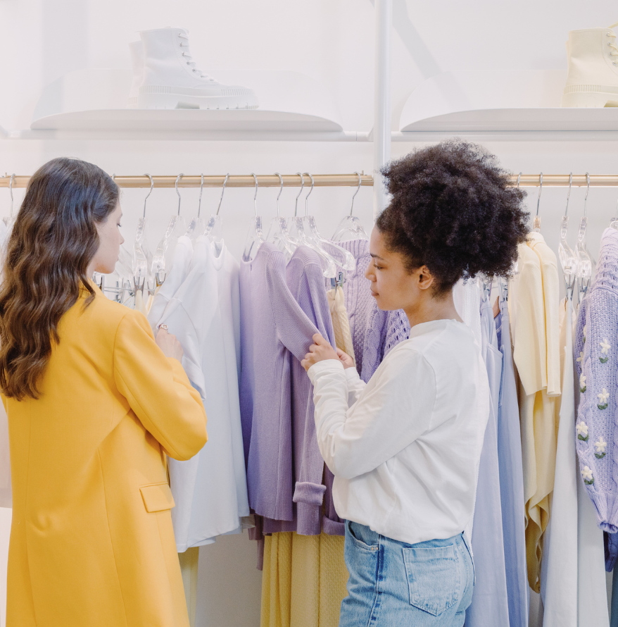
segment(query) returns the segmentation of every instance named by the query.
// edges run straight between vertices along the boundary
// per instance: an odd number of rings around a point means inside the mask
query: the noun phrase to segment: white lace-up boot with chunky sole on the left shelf
[[[253,89],[221,85],[198,70],[189,54],[189,31],[158,28],[139,34],[144,45],[144,79],[139,108],[253,109]]]

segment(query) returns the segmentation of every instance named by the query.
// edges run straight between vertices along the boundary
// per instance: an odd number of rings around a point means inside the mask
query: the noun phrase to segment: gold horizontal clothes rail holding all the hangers
[[[358,187],[357,174],[313,174],[315,187]],[[569,187],[569,174],[543,174],[543,187]],[[154,187],[175,187],[178,175],[153,176]],[[256,175],[258,187],[281,187],[279,177],[274,174]],[[517,185],[518,175],[510,175],[510,182]],[[618,174],[591,174],[590,187],[618,187]],[[284,187],[301,187],[302,178],[297,174],[282,175]],[[13,175],[13,187],[26,187],[30,176]],[[119,187],[150,187],[151,182],[147,175],[116,175],[115,182]],[[201,187],[201,175],[182,175],[178,180],[178,187]],[[203,187],[223,187],[225,175],[204,176]],[[0,187],[9,187],[11,175],[5,173],[0,177]],[[374,177],[364,172],[360,174],[360,185],[372,187]],[[519,176],[519,187],[538,187],[541,185],[541,175],[522,174]],[[586,187],[588,181],[585,174],[572,175],[573,187]],[[255,187],[253,175],[229,175],[225,187]],[[305,173],[305,187],[311,186],[311,179]]]

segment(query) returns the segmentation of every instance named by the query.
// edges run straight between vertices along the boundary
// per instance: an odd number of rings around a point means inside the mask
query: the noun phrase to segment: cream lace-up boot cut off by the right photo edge
[[[609,28],[569,32],[569,74],[562,106],[618,106],[618,46]]]

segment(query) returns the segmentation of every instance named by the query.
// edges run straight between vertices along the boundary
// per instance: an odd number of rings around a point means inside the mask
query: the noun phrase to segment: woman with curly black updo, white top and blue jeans
[[[382,174],[392,199],[372,232],[366,276],[380,309],[405,311],[410,337],[366,385],[320,335],[303,360],[346,519],[339,627],[461,627],[474,590],[462,532],[474,512],[489,391],[453,285],[510,273],[528,231],[524,192],[494,156],[459,141],[418,149]]]

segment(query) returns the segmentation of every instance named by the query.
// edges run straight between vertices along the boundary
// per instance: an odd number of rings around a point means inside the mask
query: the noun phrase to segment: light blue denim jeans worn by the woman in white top
[[[410,545],[346,521],[346,566],[339,627],[462,627],[474,590],[462,534]]]

